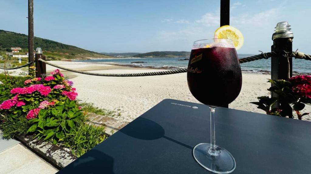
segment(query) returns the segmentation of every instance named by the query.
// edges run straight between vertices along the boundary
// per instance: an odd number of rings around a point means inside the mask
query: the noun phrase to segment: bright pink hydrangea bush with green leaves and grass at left
[[[3,137],[32,135],[68,147],[81,156],[108,136],[90,124],[88,113],[119,115],[76,99],[73,82],[57,69],[45,78],[0,75],[0,129]]]

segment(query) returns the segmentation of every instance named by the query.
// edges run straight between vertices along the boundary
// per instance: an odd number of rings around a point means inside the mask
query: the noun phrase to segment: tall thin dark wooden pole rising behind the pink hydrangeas
[[[32,62],[34,60],[34,0],[28,0],[28,52],[28,61]]]

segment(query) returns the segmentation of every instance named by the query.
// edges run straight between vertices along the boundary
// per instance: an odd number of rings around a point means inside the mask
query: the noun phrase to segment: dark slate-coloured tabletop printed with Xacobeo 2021
[[[227,108],[215,120],[232,173],[311,173],[311,122]],[[211,173],[192,156],[210,142],[209,124],[207,106],[165,99],[58,173]]]

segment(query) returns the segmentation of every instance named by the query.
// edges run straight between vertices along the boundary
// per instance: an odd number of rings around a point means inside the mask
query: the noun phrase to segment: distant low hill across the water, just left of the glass
[[[188,51],[153,51],[149,53],[137,54],[133,57],[140,57],[140,58],[156,58],[156,57],[189,57],[190,52]]]

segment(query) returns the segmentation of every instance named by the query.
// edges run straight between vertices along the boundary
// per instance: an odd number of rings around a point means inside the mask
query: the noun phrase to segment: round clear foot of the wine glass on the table
[[[211,144],[200,143],[193,148],[194,159],[205,169],[214,173],[231,173],[235,169],[233,156],[224,148],[216,145],[216,155],[210,154]]]

